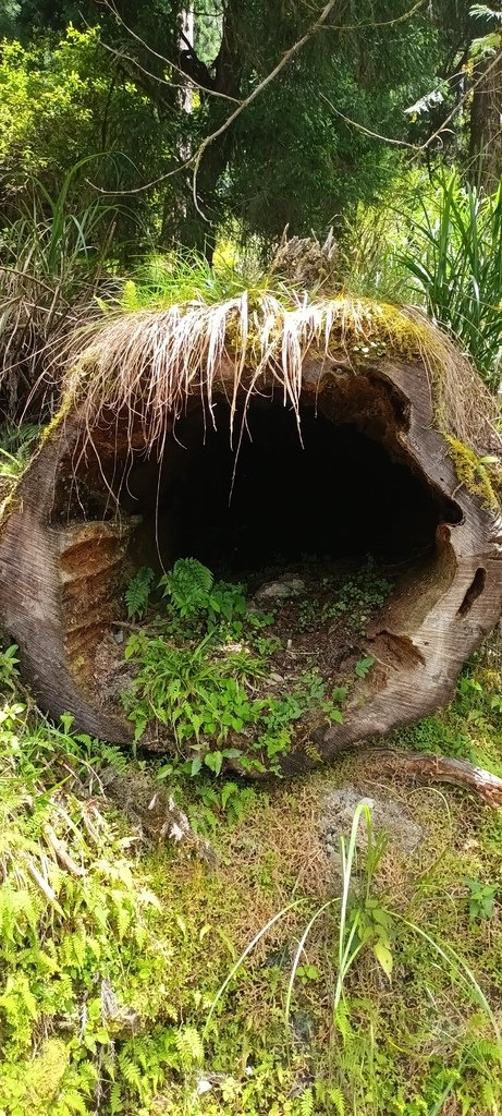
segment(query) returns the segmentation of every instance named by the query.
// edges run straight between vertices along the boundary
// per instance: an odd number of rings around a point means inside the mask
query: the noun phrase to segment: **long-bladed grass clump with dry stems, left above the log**
[[[33,180],[30,202],[0,230],[0,391],[11,415],[33,391],[44,394],[68,333],[98,311],[116,210],[99,200],[69,204],[85,162],[54,196]]]

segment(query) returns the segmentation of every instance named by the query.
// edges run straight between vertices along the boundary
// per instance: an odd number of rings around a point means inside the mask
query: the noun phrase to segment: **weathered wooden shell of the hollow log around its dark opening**
[[[452,442],[437,420],[423,355],[403,356],[387,346],[368,357],[360,352],[367,348],[365,340],[366,335],[353,334],[348,345],[346,337],[331,330],[321,352],[308,336],[301,352],[298,406],[311,422],[322,415],[334,441],[341,427],[346,439],[353,431],[354,437],[377,446],[393,468],[409,475],[409,492],[422,492],[416,522],[413,507],[407,511],[418,541],[424,532],[423,554],[409,562],[398,593],[368,632],[365,650],[377,665],[351,694],[344,723],[317,728],[307,739],[300,733],[283,760],[284,771],[310,767],[316,750],[321,758],[332,758],[368,735],[437,710],[451,698],[462,664],[502,608],[502,521],[493,490],[489,483],[467,487],[458,475]],[[201,368],[206,359],[205,350]],[[223,345],[212,368],[210,415],[218,417],[220,407],[228,426],[228,398],[234,389],[243,414],[254,405],[283,414],[284,396],[273,360],[263,363],[259,377],[242,363],[236,376],[236,364]],[[114,367],[109,375],[113,378]],[[187,448],[180,444],[176,427],[173,431],[168,405],[162,435],[152,441],[145,433],[147,392],[136,394],[131,406],[124,403],[115,410],[105,401],[90,439],[88,412],[84,421],[83,405],[67,403],[65,420],[44,441],[1,526],[0,619],[20,647],[27,680],[49,713],[69,711],[78,729],[110,741],[127,742],[132,730],[99,693],[96,650],[113,622],[124,616],[125,583],[144,564],[148,546],[153,554],[161,539],[165,565],[180,554],[184,500],[178,493],[191,483],[189,465],[197,431],[196,461],[204,469],[203,431],[209,421],[204,391],[201,395],[197,384],[185,393],[186,429],[192,431]],[[464,394],[466,402],[458,403],[464,413],[480,405],[470,400],[469,389]],[[298,416],[298,407],[293,410]],[[475,450],[496,455],[500,442],[490,434],[490,422],[485,430],[485,444],[477,439]],[[453,426],[452,433],[458,445],[458,430]],[[472,459],[472,449],[466,452],[471,464],[479,460],[475,454]],[[483,478],[482,464],[479,468]],[[349,470],[339,483],[350,485]],[[320,477],[319,484],[326,488],[327,514],[336,514],[330,478]],[[384,509],[385,491],[380,498]],[[351,514],[351,528],[363,538],[363,504]],[[385,517],[390,522],[388,506]]]

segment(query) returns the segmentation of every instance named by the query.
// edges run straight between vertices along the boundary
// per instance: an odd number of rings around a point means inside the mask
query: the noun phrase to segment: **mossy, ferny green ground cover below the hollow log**
[[[2,1116],[502,1110],[499,811],[398,770],[375,781],[357,756],[267,787],[187,778],[41,718],[16,658],[0,658]],[[500,770],[501,706],[489,644],[395,743]],[[151,812],[173,795],[185,840],[141,822],[139,785]],[[360,808],[366,852],[348,818],[329,858],[326,796],[348,785],[407,811],[416,848]]]

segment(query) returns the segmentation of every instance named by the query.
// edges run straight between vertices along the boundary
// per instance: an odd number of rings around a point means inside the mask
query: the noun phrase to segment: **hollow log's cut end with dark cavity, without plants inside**
[[[500,616],[501,520],[483,493],[460,482],[421,363],[306,358],[298,415],[272,379],[245,411],[238,396],[236,456],[230,414],[223,369],[214,425],[201,398],[189,396],[162,444],[146,445],[131,413],[102,419],[84,443],[78,413],[70,415],[32,462],[2,526],[0,614],[45,709],[127,742],[131,725],[107,704],[96,656],[124,616],[134,569],[190,555],[239,574],[266,568],[279,545],[286,561],[384,556],[403,574],[366,636],[376,670],[349,698],[342,723],[298,734],[283,760],[293,772],[311,767],[313,752],[332,759],[450,699],[466,656]],[[438,761],[429,764],[437,776]],[[499,782],[479,780],[498,802]]]

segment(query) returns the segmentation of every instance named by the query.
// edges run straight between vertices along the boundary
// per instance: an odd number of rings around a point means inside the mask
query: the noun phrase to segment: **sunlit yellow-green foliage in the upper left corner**
[[[95,18],[96,10],[90,21]],[[42,23],[31,41],[2,42],[0,165],[15,209],[19,196],[29,200],[33,177],[57,193],[57,184],[83,158],[95,158],[93,182],[110,193],[136,184],[143,171],[147,180],[160,169],[163,128],[147,97],[114,66],[100,29],[90,21],[80,29],[69,22],[58,36]],[[71,200],[84,209],[96,194],[85,180],[78,187]],[[118,234],[129,237],[142,211],[142,199],[129,198]]]

